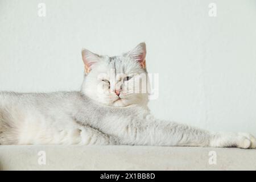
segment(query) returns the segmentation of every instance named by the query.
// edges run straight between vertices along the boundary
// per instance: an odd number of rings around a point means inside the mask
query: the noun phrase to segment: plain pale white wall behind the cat
[[[256,135],[254,0],[0,0],[0,90],[79,90],[82,47],[117,55],[139,42],[159,73],[156,117]]]

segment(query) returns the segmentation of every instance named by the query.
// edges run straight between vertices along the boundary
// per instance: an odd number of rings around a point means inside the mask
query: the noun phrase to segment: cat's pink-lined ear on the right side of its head
[[[138,61],[142,68],[146,68],[146,53],[146,44],[142,42],[127,54],[133,57],[135,61]]]

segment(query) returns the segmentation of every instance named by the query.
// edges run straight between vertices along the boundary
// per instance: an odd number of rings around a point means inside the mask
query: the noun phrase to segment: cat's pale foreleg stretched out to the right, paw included
[[[125,122],[123,122],[125,123]],[[246,133],[210,133],[175,122],[160,121],[153,117],[132,119],[117,125],[115,135],[121,138],[121,144],[150,146],[204,146],[204,147],[240,147],[255,148],[255,138]],[[123,129],[121,128],[123,127]],[[118,131],[118,132],[116,132]]]

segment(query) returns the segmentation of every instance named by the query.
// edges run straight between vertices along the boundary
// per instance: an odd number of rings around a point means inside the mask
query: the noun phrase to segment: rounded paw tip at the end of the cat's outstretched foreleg
[[[256,148],[256,138],[249,133],[238,133],[237,147]]]

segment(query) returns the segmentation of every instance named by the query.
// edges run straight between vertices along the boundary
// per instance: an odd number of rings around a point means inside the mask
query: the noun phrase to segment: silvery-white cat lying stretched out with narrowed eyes
[[[256,147],[247,133],[155,119],[148,93],[134,86],[147,75],[145,43],[112,57],[82,49],[82,60],[78,92],[0,93],[0,144]]]

